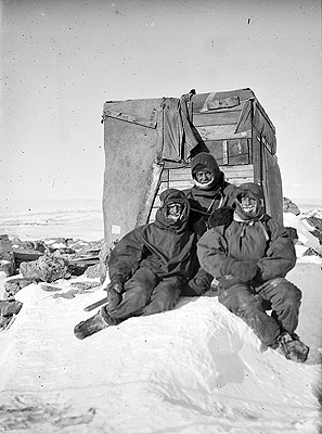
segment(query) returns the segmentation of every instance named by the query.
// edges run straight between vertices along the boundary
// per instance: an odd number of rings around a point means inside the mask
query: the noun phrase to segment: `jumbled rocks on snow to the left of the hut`
[[[69,292],[56,295],[65,298],[101,288],[114,245],[106,246],[103,240],[87,242],[55,238],[22,241],[18,238],[10,240],[7,234],[0,235],[0,271],[7,276],[3,299],[0,301],[0,330],[10,327],[22,307],[15,294],[33,282],[42,282],[44,291],[61,291],[55,285],[60,279],[82,275],[87,279],[99,278],[95,282],[72,282]]]

